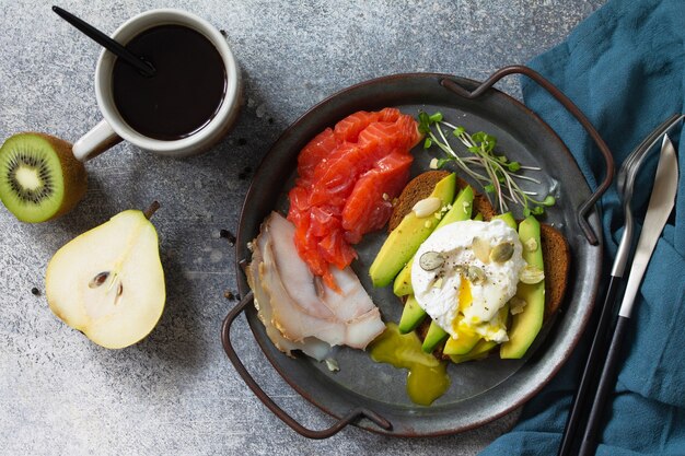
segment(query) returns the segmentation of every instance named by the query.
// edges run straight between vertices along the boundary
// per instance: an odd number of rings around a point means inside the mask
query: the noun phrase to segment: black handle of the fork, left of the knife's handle
[[[569,456],[574,453],[573,449],[578,446],[578,426],[588,416],[588,399],[590,391],[593,391],[597,384],[597,374],[601,369],[600,363],[606,358],[606,350],[611,340],[608,329],[614,315],[616,292],[620,280],[620,277],[612,276],[608,282],[606,297],[604,299],[604,305],[601,307],[600,319],[596,323],[594,337],[592,338],[592,346],[590,346],[590,351],[585,361],[585,367],[582,376],[580,377],[580,384],[578,385],[578,390],[573,397],[571,410],[566,421],[564,433],[561,434],[561,444],[559,445],[558,456]]]

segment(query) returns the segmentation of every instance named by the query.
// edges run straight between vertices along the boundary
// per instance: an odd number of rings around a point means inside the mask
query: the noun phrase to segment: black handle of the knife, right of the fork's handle
[[[616,371],[618,370],[620,349],[623,347],[623,340],[628,329],[629,321],[630,318],[620,315],[616,320],[616,329],[614,330],[612,344],[609,346],[606,354],[606,362],[604,363],[604,369],[602,370],[597,391],[594,395],[594,401],[592,404],[592,408],[590,409],[588,425],[578,453],[579,456],[591,456],[595,453],[597,434],[601,431],[600,425],[602,424],[602,419],[606,416],[604,410],[606,400],[609,393],[616,385]]]

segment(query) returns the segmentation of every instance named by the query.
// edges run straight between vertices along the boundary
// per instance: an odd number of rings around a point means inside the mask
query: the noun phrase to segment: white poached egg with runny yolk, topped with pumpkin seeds
[[[411,267],[416,300],[455,339],[464,331],[504,342],[507,315],[525,266],[515,230],[502,220],[466,220],[436,230]]]

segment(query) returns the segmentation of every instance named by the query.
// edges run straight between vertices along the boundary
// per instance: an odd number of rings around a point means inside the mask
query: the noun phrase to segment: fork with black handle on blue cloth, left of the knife
[[[616,257],[612,266],[612,272],[609,282],[604,299],[604,304],[601,307],[600,319],[596,324],[588,360],[580,378],[580,384],[573,402],[571,404],[571,410],[561,435],[561,444],[559,446],[558,456],[568,456],[572,454],[572,449],[577,444],[578,425],[584,421],[588,413],[588,396],[590,391],[594,390],[597,384],[599,363],[606,358],[609,343],[609,324],[614,315],[614,306],[616,302],[616,292],[622,282],[623,274],[626,270],[626,265],[630,256],[630,247],[632,244],[635,221],[632,218],[632,209],[630,202],[632,200],[632,191],[635,187],[635,179],[649,152],[653,150],[659,139],[665,135],[671,128],[675,127],[685,115],[675,114],[667,118],[663,124],[657,127],[651,133],[649,133],[640,144],[635,148],[630,155],[624,161],[616,176],[616,189],[618,196],[623,202],[623,210],[625,213],[625,227],[620,236],[618,249],[616,250]]]

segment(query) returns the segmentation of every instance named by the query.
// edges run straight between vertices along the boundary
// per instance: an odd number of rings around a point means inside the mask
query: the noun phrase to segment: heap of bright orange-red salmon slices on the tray
[[[351,244],[387,222],[420,139],[416,120],[396,108],[360,110],[300,152],[288,220],[300,258],[330,289],[339,291],[330,266],[349,266],[357,258]]]

